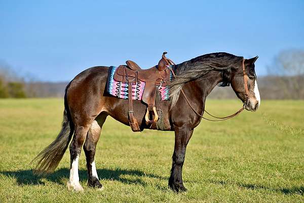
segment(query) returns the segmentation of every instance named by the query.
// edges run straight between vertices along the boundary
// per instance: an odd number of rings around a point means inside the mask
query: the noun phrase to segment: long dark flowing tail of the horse
[[[37,160],[37,165],[33,170],[34,174],[45,175],[54,172],[73,137],[74,123],[71,120],[66,98],[66,92],[69,85],[70,83],[65,88],[61,130],[57,138],[32,160],[32,162]]]

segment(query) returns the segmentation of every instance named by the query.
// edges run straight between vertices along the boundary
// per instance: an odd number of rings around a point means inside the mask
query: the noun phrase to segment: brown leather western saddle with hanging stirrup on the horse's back
[[[170,65],[174,64],[168,59],[164,52],[158,65],[151,67],[150,69],[141,69],[134,61],[127,60],[127,65],[118,66],[114,79],[119,82],[128,83],[128,101],[129,101],[129,124],[131,129],[135,131],[141,131],[133,112],[132,103],[132,84],[138,82],[144,82],[144,90],[142,93],[142,101],[147,105],[145,114],[146,125],[152,125],[156,123],[159,116],[155,107],[156,90],[162,86],[166,86],[170,83]],[[131,88],[130,88],[131,87]],[[131,96],[130,96],[131,95]],[[154,119],[153,119],[154,116]],[[149,118],[152,118],[150,120]]]

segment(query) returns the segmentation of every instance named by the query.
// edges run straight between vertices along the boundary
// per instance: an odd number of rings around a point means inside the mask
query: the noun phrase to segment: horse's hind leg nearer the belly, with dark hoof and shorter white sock
[[[106,115],[102,114],[96,118],[92,123],[91,128],[88,131],[86,142],[84,145],[84,151],[87,159],[88,168],[88,186],[103,189],[101,183],[99,182],[96,166],[95,166],[95,152],[96,145],[100,137],[101,127],[106,119]]]

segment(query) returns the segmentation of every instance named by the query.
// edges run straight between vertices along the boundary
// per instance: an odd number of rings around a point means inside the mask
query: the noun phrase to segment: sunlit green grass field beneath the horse
[[[202,121],[183,167],[188,192],[167,188],[174,133],[134,133],[108,118],[96,152],[105,189],[68,192],[69,153],[57,170],[32,175],[31,159],[60,129],[61,99],[0,100],[0,202],[304,202],[304,101],[262,101],[258,112],[223,122]],[[208,100],[216,115],[231,114],[237,100]]]

